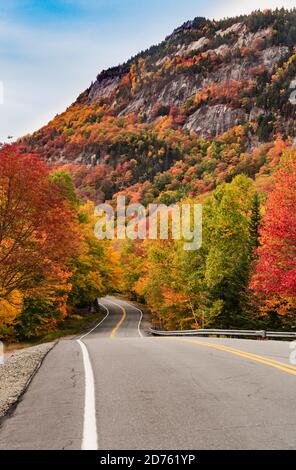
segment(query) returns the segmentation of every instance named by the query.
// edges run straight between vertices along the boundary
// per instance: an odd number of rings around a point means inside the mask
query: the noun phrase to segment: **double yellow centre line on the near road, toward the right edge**
[[[206,346],[206,347],[212,348],[212,349],[217,349],[219,351],[224,351],[224,352],[227,352],[229,354],[234,354],[236,356],[241,356],[241,357],[244,357],[246,359],[250,359],[252,361],[260,362],[260,363],[265,364],[267,366],[274,367],[275,369],[279,369],[283,372],[287,372],[288,374],[296,375],[296,368],[295,367],[290,366],[289,364],[285,364],[283,362],[278,362],[278,361],[275,361],[273,359],[269,359],[268,357],[265,357],[265,356],[259,356],[257,354],[248,353],[248,352],[242,351],[240,349],[230,348],[230,347],[224,346],[222,344],[209,343],[207,341],[198,341],[198,340],[185,339],[185,338],[182,338],[182,339],[174,338],[174,339],[177,339],[178,341],[187,342],[187,343],[193,343],[193,344],[198,344],[198,345],[201,345],[201,346]]]

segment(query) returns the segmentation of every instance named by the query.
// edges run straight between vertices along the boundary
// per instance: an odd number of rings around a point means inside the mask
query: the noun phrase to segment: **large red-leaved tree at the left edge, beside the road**
[[[0,298],[66,275],[80,238],[62,189],[37,156],[0,150]]]

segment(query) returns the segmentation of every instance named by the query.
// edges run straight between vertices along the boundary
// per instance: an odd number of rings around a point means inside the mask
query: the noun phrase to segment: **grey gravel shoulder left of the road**
[[[0,365],[0,418],[17,403],[46,354],[56,342],[16,350],[5,355]]]

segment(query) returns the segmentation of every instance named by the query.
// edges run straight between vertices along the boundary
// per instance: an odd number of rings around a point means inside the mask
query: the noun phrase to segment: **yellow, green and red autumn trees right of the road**
[[[156,327],[295,325],[296,154],[283,142],[267,153],[279,166],[269,184],[238,175],[191,200],[203,202],[200,250],[173,240],[123,247],[125,289],[148,304]]]

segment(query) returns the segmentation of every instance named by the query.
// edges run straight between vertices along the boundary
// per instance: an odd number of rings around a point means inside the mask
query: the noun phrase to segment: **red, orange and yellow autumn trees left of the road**
[[[51,331],[118,282],[112,248],[93,233],[94,207],[51,171],[20,147],[0,150],[0,334]]]

